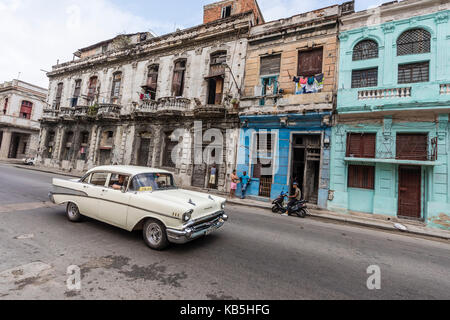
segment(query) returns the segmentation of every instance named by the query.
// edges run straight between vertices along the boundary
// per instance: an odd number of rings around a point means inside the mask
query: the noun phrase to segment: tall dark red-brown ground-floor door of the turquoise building
[[[399,168],[398,215],[401,217],[421,218],[421,181],[420,167]]]

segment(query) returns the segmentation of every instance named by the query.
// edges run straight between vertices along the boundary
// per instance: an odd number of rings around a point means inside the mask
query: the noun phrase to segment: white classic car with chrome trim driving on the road
[[[156,250],[208,235],[228,220],[224,198],[179,189],[170,172],[146,167],[104,166],[81,179],[53,179],[49,197],[67,205],[72,222],[88,216],[142,230],[145,243]]]

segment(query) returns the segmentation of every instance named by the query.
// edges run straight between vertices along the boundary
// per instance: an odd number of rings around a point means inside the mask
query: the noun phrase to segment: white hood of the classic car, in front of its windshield
[[[224,198],[207,193],[183,189],[155,191],[148,193],[148,195],[156,197],[160,201],[167,202],[167,204],[183,208],[185,210],[184,212],[191,209],[194,210],[192,214],[193,219],[222,210],[221,205],[226,201]]]

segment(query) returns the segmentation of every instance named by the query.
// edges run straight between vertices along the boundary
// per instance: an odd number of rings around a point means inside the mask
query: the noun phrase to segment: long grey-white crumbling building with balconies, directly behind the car
[[[226,190],[239,135],[232,102],[239,99],[246,38],[259,14],[235,7],[160,37],[120,36],[54,66],[41,163],[79,171],[103,164],[165,168],[181,185]],[[210,184],[214,164],[218,173]]]

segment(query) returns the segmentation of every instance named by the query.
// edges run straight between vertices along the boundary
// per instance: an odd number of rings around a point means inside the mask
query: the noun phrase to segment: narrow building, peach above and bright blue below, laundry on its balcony
[[[339,19],[353,12],[350,1],[252,28],[239,108],[247,195],[273,199],[297,182],[326,207]]]

